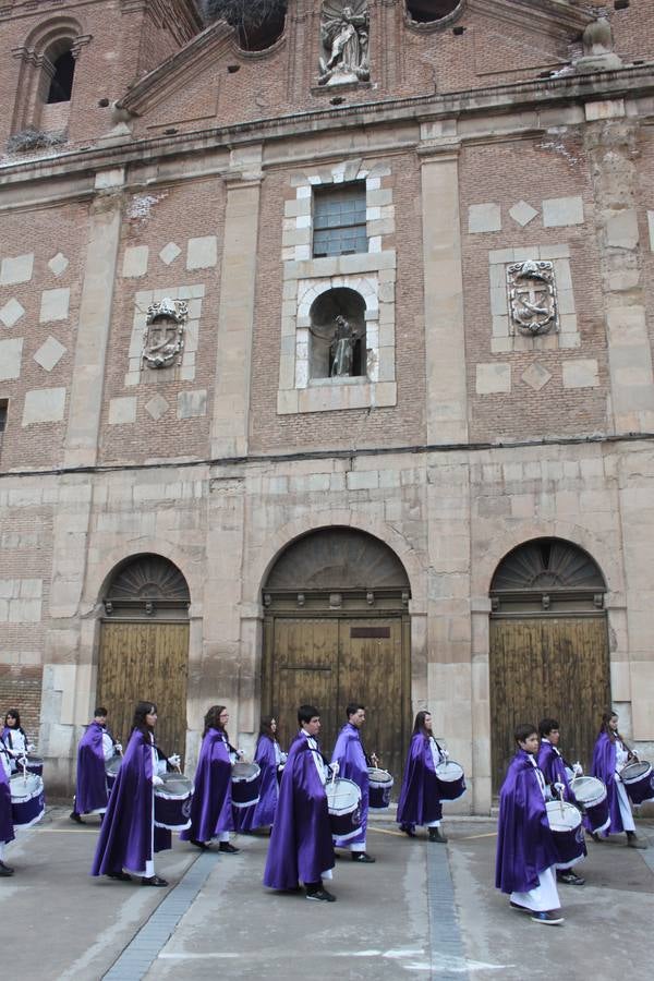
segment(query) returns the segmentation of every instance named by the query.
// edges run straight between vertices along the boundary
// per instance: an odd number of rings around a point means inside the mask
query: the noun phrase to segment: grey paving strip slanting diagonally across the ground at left
[[[197,858],[179,884],[157,907],[147,923],[128,944],[104,976],[104,981],[140,981],[146,976],[217,861],[217,851],[205,851]]]

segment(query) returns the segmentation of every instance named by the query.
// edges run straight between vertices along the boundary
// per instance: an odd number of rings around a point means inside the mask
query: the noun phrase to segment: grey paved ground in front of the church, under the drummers
[[[241,838],[233,857],[177,843],[157,862],[170,889],[93,880],[96,827],[53,809],[11,848],[16,875],[0,882],[0,933],[13,938],[21,981],[649,981],[653,823],[642,826],[649,851],[590,844],[586,886],[560,889],[560,928],[532,923],[492,887],[492,822],[451,820],[447,832],[447,847],[428,846],[375,820],[377,863],[339,860],[338,901],[327,905],[263,888],[264,837]]]

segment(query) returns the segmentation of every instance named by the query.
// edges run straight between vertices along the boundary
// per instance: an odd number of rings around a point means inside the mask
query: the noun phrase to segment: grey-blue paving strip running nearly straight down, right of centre
[[[426,848],[432,981],[468,981],[447,848],[428,844]]]

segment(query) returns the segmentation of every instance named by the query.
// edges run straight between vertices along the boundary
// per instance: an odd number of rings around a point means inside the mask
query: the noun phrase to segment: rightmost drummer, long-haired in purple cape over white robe
[[[595,742],[591,766],[591,776],[597,777],[605,784],[608,799],[610,824],[601,834],[606,837],[626,832],[627,844],[630,848],[646,848],[646,841],[635,834],[629,798],[619,775],[620,770],[632,759],[633,754],[618,732],[617,713],[605,712],[602,716],[602,726]],[[594,834],[593,840],[601,840],[600,834]]]

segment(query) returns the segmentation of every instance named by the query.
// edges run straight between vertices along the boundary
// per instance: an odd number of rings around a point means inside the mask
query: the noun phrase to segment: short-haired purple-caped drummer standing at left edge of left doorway
[[[82,814],[105,813],[109,797],[105,765],[120,752],[121,744],[107,729],[107,710],[99,705],[77,746],[77,779],[71,821],[83,824]]]

